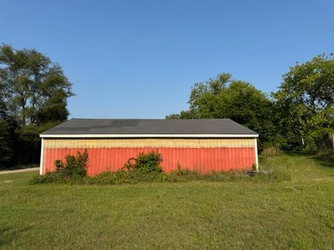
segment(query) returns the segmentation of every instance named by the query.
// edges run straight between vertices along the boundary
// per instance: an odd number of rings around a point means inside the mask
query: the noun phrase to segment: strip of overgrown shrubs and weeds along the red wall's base
[[[116,185],[122,183],[141,182],[186,182],[186,181],[285,181],[291,178],[285,172],[264,171],[249,174],[248,171],[210,172],[202,173],[199,169],[182,168],[166,173],[161,167],[162,156],[157,152],[140,153],[136,158],[130,158],[124,167],[116,172],[102,172],[94,177],[86,176],[88,153],[68,155],[65,163],[56,160],[56,170],[45,176],[38,176],[32,183],[81,183],[97,185]],[[289,166],[287,166],[289,168]]]

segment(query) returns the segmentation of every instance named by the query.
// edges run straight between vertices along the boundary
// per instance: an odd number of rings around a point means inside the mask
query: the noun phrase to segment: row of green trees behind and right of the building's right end
[[[327,151],[334,145],[333,53],[296,63],[270,95],[219,74],[191,89],[189,109],[167,119],[230,118],[259,133],[259,149]]]

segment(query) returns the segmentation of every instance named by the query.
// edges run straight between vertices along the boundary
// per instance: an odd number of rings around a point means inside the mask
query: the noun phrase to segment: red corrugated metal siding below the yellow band
[[[43,174],[54,170],[55,160],[64,160],[68,154],[75,155],[85,148],[46,148],[43,157]],[[200,169],[202,172],[229,171],[232,169],[250,169],[255,163],[255,151],[250,147],[225,148],[88,148],[88,175],[95,176],[103,171],[116,171],[124,166],[127,160],[142,152],[158,151],[164,162],[166,172],[182,168]]]

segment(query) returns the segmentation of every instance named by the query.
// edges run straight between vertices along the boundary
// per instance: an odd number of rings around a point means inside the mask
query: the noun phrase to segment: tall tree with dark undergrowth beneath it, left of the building
[[[67,119],[72,84],[35,49],[0,47],[0,167],[38,163],[42,131]]]

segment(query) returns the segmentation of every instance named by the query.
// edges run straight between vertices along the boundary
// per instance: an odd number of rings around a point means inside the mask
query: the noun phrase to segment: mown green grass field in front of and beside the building
[[[334,249],[334,163],[262,160],[280,183],[29,185],[0,176],[1,249]]]

